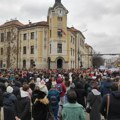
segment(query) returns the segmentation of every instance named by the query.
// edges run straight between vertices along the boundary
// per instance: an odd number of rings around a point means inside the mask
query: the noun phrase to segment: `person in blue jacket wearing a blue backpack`
[[[55,116],[55,120],[58,120],[60,93],[56,89],[56,84],[52,84],[51,89],[48,92],[48,99],[50,101],[51,111]]]

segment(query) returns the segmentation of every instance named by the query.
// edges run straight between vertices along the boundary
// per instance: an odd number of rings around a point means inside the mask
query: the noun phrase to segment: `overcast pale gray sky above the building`
[[[120,0],[61,0],[69,11],[68,27],[83,32],[86,43],[100,53],[120,53]],[[0,0],[0,24],[47,20],[55,0]]]

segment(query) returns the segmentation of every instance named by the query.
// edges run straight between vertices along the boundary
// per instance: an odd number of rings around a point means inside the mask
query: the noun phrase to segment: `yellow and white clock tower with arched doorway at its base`
[[[49,58],[52,68],[64,68],[67,62],[67,14],[61,0],[55,0],[48,10]]]

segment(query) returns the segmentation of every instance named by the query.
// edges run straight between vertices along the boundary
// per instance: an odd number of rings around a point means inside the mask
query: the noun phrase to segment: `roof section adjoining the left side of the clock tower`
[[[36,22],[36,23],[29,22],[29,24],[21,26],[19,29],[26,29],[26,28],[36,27],[36,26],[47,26],[48,27],[48,22],[46,21],[41,21],[41,22]]]

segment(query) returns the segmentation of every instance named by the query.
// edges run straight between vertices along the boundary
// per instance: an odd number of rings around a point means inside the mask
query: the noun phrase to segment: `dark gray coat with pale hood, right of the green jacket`
[[[90,112],[90,120],[101,120],[101,94],[98,90],[92,89],[92,91],[88,94],[87,104],[90,104],[90,106],[92,107],[92,110]]]

